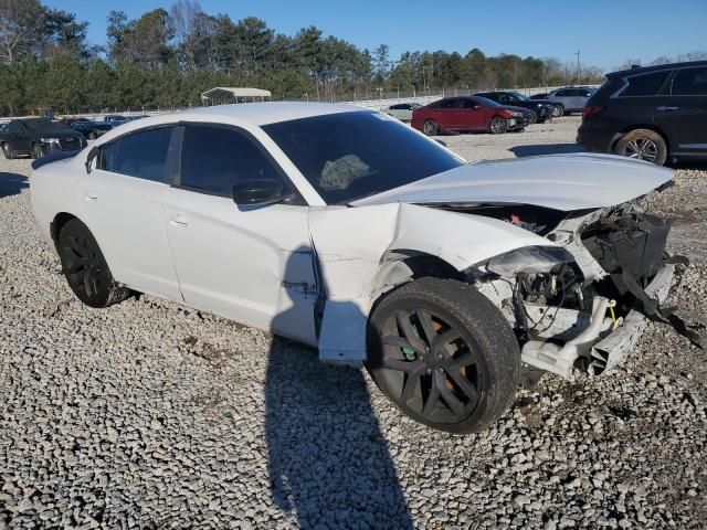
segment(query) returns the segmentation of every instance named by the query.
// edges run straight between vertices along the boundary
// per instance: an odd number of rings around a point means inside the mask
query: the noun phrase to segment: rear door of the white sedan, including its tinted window
[[[173,131],[173,126],[141,129],[102,145],[78,193],[82,221],[116,280],[180,300],[162,206]]]

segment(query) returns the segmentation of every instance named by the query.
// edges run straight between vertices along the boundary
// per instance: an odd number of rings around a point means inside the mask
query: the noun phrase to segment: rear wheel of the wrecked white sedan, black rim
[[[62,226],[56,250],[68,286],[87,306],[108,307],[129,296],[130,290],[113,278],[88,227],[77,219]]]

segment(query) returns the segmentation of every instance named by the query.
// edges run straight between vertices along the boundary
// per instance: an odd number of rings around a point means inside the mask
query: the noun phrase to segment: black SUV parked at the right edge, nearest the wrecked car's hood
[[[587,102],[577,141],[658,166],[707,158],[707,61],[606,74]]]

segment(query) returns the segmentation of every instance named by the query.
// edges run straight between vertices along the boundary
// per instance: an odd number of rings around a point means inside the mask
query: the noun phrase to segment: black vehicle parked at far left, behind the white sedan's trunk
[[[52,151],[73,151],[86,147],[81,132],[48,118],[13,119],[0,132],[4,158],[30,155],[40,158]]]

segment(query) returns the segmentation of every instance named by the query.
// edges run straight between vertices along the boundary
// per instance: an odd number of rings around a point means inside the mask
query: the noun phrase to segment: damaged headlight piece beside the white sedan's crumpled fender
[[[488,259],[486,271],[503,277],[518,273],[549,273],[557,265],[571,263],[574,256],[560,246],[526,246]]]

